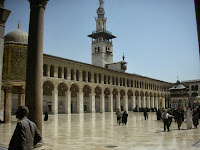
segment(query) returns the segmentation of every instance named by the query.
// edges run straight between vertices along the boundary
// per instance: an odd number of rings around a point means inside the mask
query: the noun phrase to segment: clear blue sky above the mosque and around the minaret
[[[5,34],[28,33],[28,0],[5,0],[11,10]],[[50,0],[44,16],[45,54],[91,64],[98,0]],[[200,79],[193,0],[104,0],[106,29],[113,39],[113,61],[125,55],[127,73],[175,83]]]

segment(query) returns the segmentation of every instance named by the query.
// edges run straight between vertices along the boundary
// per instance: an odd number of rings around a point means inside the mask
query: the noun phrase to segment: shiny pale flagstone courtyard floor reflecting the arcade
[[[16,126],[0,124],[0,146],[8,146]],[[181,130],[172,123],[170,132],[163,132],[163,122],[149,113],[129,112],[127,125],[117,125],[115,113],[49,115],[43,122],[44,146],[37,150],[199,150],[200,127]],[[196,145],[195,145],[196,144]]]

